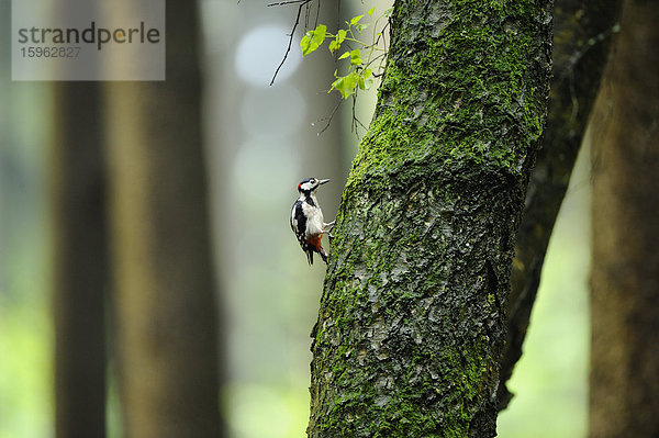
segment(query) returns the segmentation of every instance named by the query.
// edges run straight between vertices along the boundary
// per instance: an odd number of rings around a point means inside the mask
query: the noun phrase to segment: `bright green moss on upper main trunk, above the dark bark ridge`
[[[535,3],[483,3],[455,2],[438,35],[392,52],[350,183],[427,159],[523,171],[541,136],[546,100],[546,89],[526,86],[538,40],[521,23],[537,24]]]

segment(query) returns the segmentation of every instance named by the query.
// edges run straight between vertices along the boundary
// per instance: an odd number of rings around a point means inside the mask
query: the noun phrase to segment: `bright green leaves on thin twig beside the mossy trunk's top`
[[[369,9],[368,16],[372,18],[375,11],[376,8]],[[380,19],[388,18],[392,11],[393,8],[386,10],[382,15],[376,19],[375,26],[377,27]],[[343,75],[338,72],[338,69],[334,71],[335,80],[328,91],[336,90],[344,99],[356,96],[358,90],[368,90],[373,86],[372,65],[378,60],[382,60],[387,54],[384,49],[378,47],[382,32],[373,32],[370,43],[361,40],[361,34],[370,26],[370,24],[361,22],[364,16],[364,14],[353,16],[350,21],[345,22],[346,29],[339,29],[336,34],[328,33],[325,24],[319,24],[314,30],[306,32],[300,42],[303,56],[315,52],[327,38],[330,38],[327,48],[333,55],[344,45],[348,46],[348,49],[337,58],[337,61],[349,60],[347,71]],[[355,44],[358,48],[349,47],[349,44]]]

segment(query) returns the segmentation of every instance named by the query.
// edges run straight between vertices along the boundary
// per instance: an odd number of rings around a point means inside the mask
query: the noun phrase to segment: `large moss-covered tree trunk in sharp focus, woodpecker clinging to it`
[[[311,437],[495,435],[550,3],[395,2],[313,334]]]

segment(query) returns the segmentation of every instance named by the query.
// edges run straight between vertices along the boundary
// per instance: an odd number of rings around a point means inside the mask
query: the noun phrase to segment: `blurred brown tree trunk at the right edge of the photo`
[[[590,436],[659,436],[659,3],[625,1],[593,135]]]

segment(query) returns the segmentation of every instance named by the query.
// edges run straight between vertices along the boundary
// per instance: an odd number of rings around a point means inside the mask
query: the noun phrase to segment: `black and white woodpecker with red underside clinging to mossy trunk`
[[[321,246],[323,234],[330,234],[334,227],[335,221],[326,224],[323,222],[323,212],[319,200],[315,196],[315,191],[322,184],[330,182],[328,179],[306,178],[298,184],[300,198],[293,204],[291,210],[291,228],[298,237],[298,242],[302,247],[309,265],[313,265],[313,252],[317,252],[323,261],[327,263],[327,254]],[[330,229],[325,229],[328,227]]]

